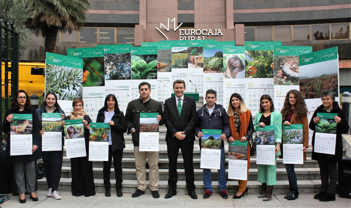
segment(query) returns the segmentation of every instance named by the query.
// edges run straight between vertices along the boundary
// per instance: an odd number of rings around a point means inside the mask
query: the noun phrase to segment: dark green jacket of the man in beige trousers
[[[163,111],[158,101],[151,98],[145,103],[140,98],[130,101],[127,106],[125,120],[128,129],[127,134],[132,134],[134,147],[139,146],[140,113],[159,113],[162,117],[159,125],[163,125]],[[133,133],[131,133],[132,128],[135,129]]]

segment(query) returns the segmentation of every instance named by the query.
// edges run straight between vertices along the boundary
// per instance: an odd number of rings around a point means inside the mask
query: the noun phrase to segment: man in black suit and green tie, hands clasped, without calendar
[[[174,81],[173,90],[176,96],[168,98],[165,101],[163,114],[163,120],[167,127],[166,142],[169,160],[169,190],[165,198],[168,199],[177,194],[177,160],[180,148],[184,160],[188,195],[190,195],[192,199],[197,199],[193,166],[196,103],[194,98],[184,96],[185,82],[183,80]]]

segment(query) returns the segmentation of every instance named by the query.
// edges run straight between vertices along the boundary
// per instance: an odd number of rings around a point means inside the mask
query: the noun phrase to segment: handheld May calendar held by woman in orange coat
[[[247,180],[248,142],[229,142],[228,179]]]

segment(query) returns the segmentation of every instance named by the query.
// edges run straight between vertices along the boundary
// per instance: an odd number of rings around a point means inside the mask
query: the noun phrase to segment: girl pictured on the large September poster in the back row
[[[227,56],[225,63],[227,65],[227,77],[231,79],[245,78],[245,62],[238,55],[232,54]]]

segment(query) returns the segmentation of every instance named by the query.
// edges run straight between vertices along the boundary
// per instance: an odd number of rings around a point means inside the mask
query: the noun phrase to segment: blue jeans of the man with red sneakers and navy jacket
[[[211,169],[203,168],[204,186],[206,190],[212,192],[212,178]],[[218,185],[219,191],[226,190],[227,176],[225,174],[225,155],[224,148],[221,148],[220,152],[220,169],[218,170]]]

